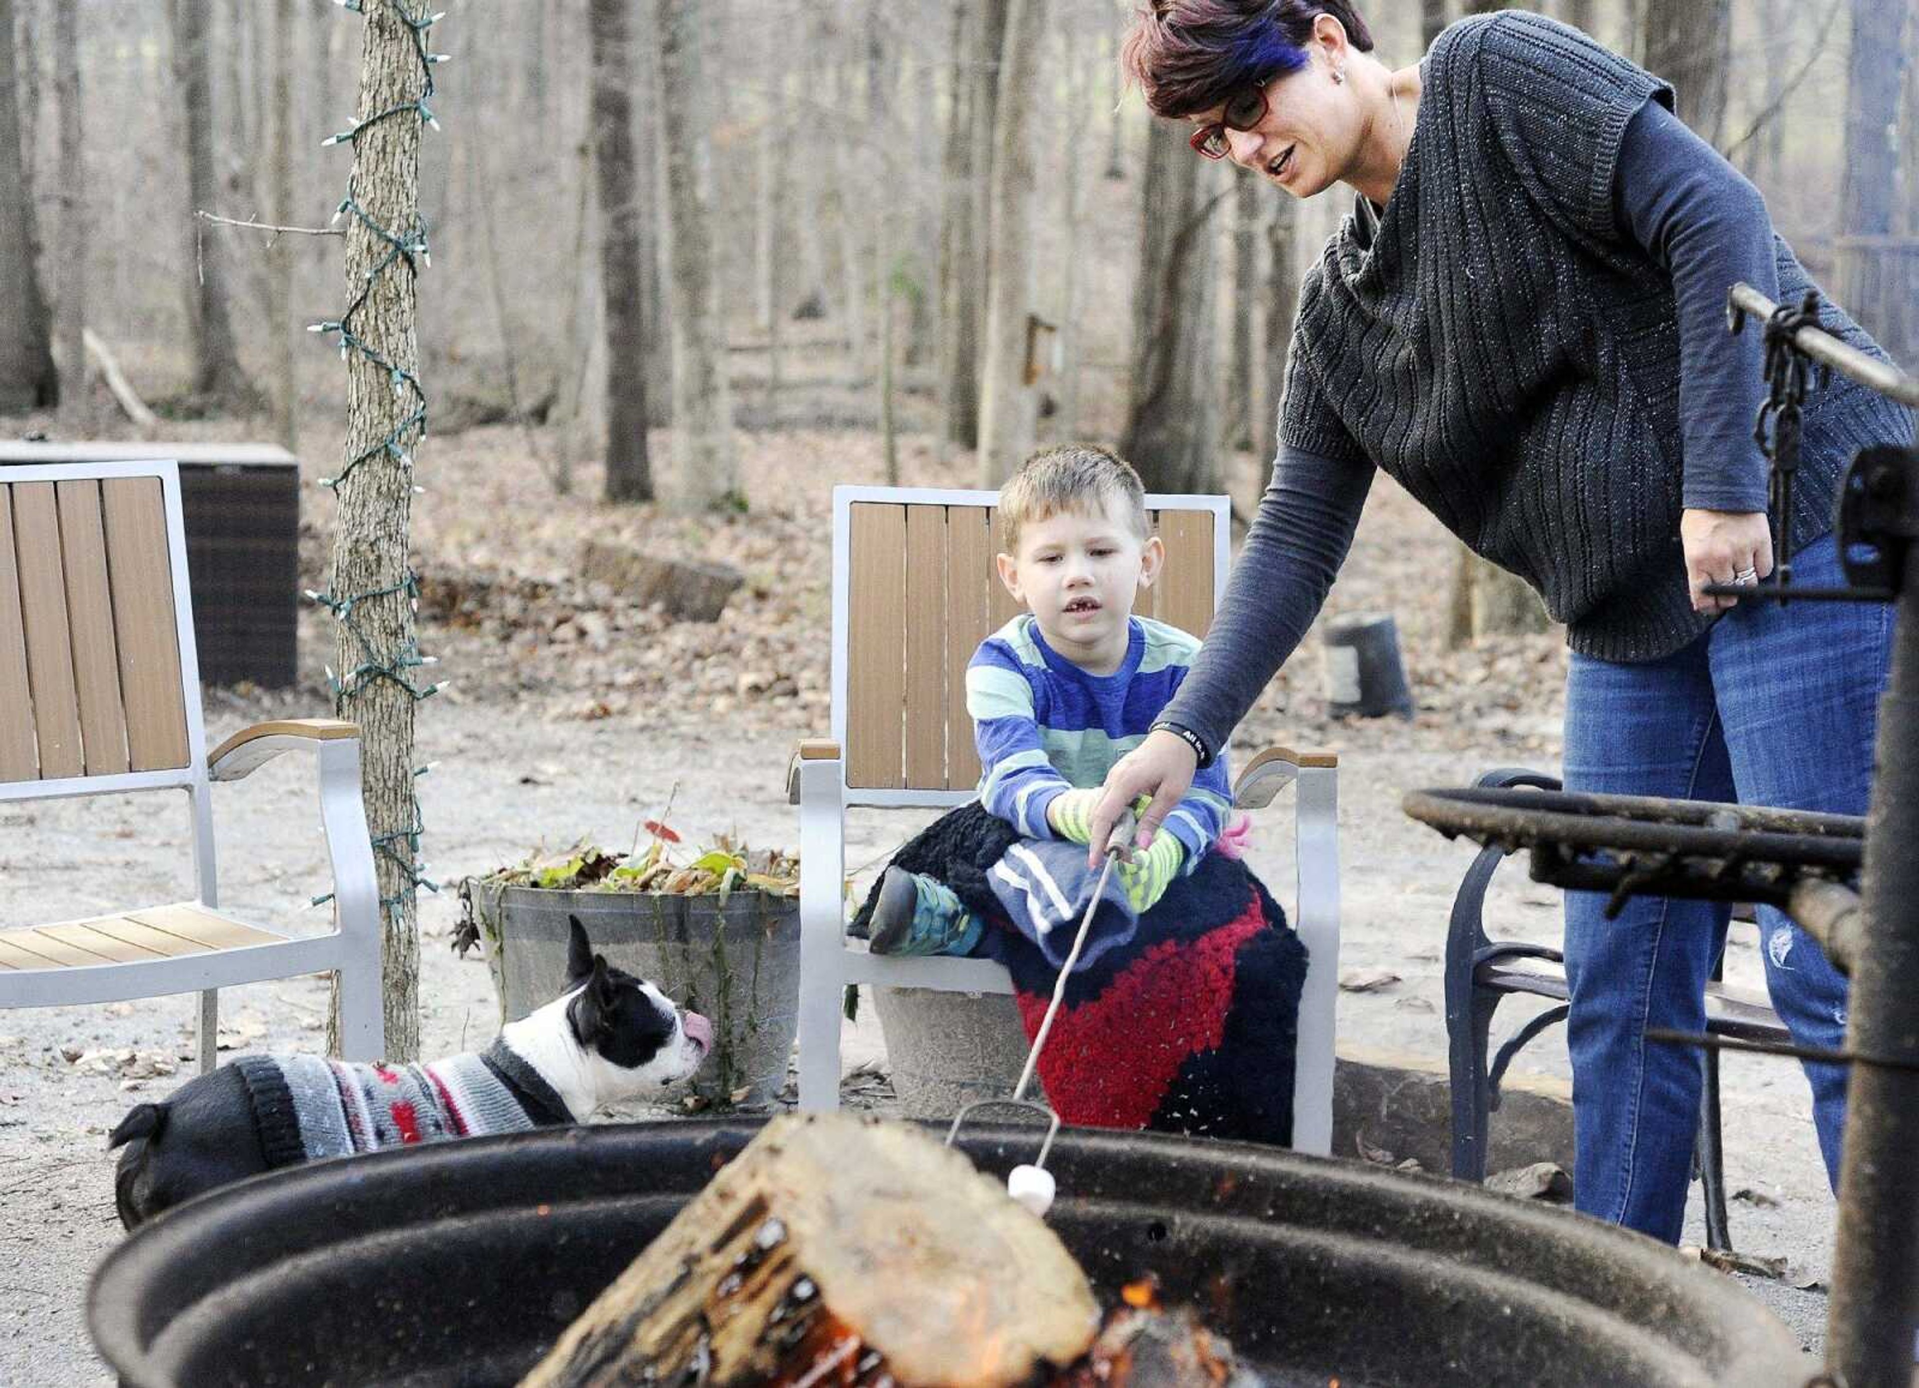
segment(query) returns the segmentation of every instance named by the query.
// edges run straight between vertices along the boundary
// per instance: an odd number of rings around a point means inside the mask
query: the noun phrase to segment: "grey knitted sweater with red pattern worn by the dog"
[[[272,1167],[570,1119],[553,1087],[501,1041],[428,1065],[244,1056],[234,1067]]]

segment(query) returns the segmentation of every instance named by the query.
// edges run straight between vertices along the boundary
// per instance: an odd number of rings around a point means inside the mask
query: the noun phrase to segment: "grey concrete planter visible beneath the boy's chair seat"
[[[873,1004],[910,1117],[948,1119],[975,1100],[1013,1096],[1027,1031],[1009,994],[873,989]],[[1038,1079],[1027,1098],[1044,1100]]]

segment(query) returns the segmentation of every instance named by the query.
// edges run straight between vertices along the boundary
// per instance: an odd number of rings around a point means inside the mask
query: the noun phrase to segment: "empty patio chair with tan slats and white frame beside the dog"
[[[319,762],[334,875],[336,929],[319,937],[219,910],[211,783],[296,749]],[[175,465],[0,467],[0,802],[159,789],[188,797],[194,898],[0,929],[0,1008],[200,993],[207,1071],[219,989],[332,969],[342,1054],[378,1060],[378,887],[359,730],[269,722],[207,756]]]

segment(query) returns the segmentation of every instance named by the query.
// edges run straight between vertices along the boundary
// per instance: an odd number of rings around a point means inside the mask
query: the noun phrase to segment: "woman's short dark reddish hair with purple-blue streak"
[[[1339,21],[1353,48],[1372,52],[1372,31],[1353,0],[1146,0],[1121,63],[1153,115],[1192,115],[1305,67],[1322,13]]]

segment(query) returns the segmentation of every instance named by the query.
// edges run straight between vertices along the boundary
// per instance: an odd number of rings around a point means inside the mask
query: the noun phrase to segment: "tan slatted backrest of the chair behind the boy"
[[[1019,612],[994,566],[992,491],[835,490],[833,735],[856,801],[940,804],[979,783],[965,666]],[[1167,566],[1134,609],[1205,635],[1224,497],[1148,497]]]

